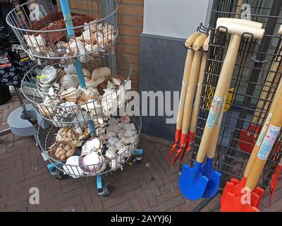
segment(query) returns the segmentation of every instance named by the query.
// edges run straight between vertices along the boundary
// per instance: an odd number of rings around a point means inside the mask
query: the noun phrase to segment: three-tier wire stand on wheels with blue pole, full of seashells
[[[44,0],[32,13],[27,8],[38,5],[29,1],[8,13],[8,25],[37,62],[21,90],[37,112],[49,172],[57,179],[96,177],[98,194],[107,196],[114,186],[102,183],[102,174],[143,155],[137,149],[141,118],[124,112],[131,64],[115,50],[118,4],[57,2]]]

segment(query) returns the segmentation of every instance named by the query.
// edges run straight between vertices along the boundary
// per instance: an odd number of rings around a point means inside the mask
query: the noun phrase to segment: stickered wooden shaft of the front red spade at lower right
[[[280,95],[282,98],[282,95]],[[280,105],[276,105],[274,113],[271,117],[269,127],[264,135],[264,139],[259,146],[259,151],[257,156],[255,157],[254,164],[252,165],[252,170],[250,172],[249,177],[247,177],[246,187],[251,191],[254,191],[255,186],[257,186],[257,182],[259,182],[260,174],[262,174],[262,170],[264,169],[264,165],[266,163],[267,158],[269,157],[269,153],[271,148],[273,147],[276,138],[281,130],[282,126],[282,107]],[[257,146],[257,143],[255,147]]]

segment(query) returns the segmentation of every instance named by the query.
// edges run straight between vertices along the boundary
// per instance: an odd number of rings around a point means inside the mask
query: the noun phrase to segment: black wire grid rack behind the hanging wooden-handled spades
[[[231,35],[226,32],[215,32],[217,18],[240,18],[241,1],[234,0],[214,0],[212,6],[212,15],[210,18],[210,44],[207,54],[207,67],[204,75],[204,83],[202,90],[202,98],[200,103],[200,115],[197,124],[197,132],[195,136],[194,148],[192,148],[193,165],[197,157],[197,151],[201,143],[202,133],[209,114],[209,106],[212,103],[216,84],[221,72],[228,43]],[[271,107],[271,102],[274,99],[274,93],[278,82],[281,79],[281,35],[278,35],[278,28],[281,25],[282,2],[274,1],[243,1],[243,4],[249,4],[251,9],[250,18],[253,21],[263,23],[265,35],[262,40],[258,41],[250,37],[244,37],[240,42],[240,49],[233,71],[233,78],[229,90],[229,100],[226,101],[226,112],[223,115],[219,140],[216,147],[216,157],[214,158],[214,168],[221,172],[221,184],[219,192],[228,180],[231,178],[241,179],[243,177],[247,160],[250,153],[246,153],[240,149],[240,133],[248,130],[252,124],[252,117],[256,114],[259,117],[259,122],[256,126],[263,126],[266,116]],[[247,6],[247,5],[245,5]],[[239,11],[238,11],[239,8]],[[243,10],[245,8],[242,8]],[[236,57],[236,56],[234,56]],[[279,62],[277,69],[273,70],[275,62]],[[266,77],[269,73],[275,73],[274,78],[267,82]],[[266,88],[266,98],[261,97],[263,88]],[[264,107],[257,109],[259,100],[264,102]],[[253,134],[255,135],[255,134]],[[271,182],[271,175],[276,166],[280,162],[282,156],[281,133],[274,145],[269,159],[266,162],[264,171],[259,180],[259,186],[263,189]],[[247,145],[252,145],[246,142]],[[213,198],[208,198],[202,201],[193,211],[200,211],[204,206],[212,201]]]

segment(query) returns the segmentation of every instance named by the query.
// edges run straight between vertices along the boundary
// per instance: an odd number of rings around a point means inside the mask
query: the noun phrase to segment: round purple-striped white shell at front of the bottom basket
[[[98,174],[102,172],[103,158],[97,155],[97,153],[80,155],[78,163],[85,174]]]

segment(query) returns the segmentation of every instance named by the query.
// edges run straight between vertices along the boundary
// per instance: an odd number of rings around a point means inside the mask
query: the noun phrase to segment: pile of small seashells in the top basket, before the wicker
[[[87,63],[92,57],[96,57],[99,51],[103,52],[104,48],[116,40],[115,30],[112,25],[108,23],[104,23],[104,25],[102,23],[97,24],[96,21],[91,21],[92,25],[85,23],[82,35],[71,38],[69,42],[59,41],[47,44],[42,35],[24,35],[24,39],[31,54],[45,57],[47,60],[59,59],[59,65],[61,66],[73,63],[73,57],[78,57],[82,63]],[[39,64],[41,64],[40,62],[38,59]],[[57,61],[55,62],[58,64]]]

